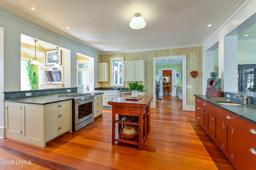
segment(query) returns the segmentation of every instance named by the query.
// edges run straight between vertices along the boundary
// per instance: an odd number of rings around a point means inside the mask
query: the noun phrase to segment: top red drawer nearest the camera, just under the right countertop
[[[256,140],[256,125],[249,123],[239,117],[236,118],[236,125],[246,131],[252,138]]]

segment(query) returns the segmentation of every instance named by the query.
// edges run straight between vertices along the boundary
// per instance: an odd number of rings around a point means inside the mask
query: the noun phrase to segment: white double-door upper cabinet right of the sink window
[[[144,60],[124,62],[124,81],[144,81]]]

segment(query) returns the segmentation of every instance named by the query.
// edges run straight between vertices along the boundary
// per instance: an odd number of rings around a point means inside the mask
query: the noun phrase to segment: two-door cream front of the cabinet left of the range
[[[44,145],[43,106],[5,102],[6,137]]]

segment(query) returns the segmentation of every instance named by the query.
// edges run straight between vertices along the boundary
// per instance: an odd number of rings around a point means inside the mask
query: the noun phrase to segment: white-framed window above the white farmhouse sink
[[[123,86],[123,63],[124,57],[111,57],[110,58],[110,80],[111,85]]]

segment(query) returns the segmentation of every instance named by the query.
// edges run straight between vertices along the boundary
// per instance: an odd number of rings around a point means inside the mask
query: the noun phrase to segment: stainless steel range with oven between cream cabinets
[[[59,95],[62,98],[72,98],[72,131],[94,122],[94,95],[90,93],[73,93]]]

